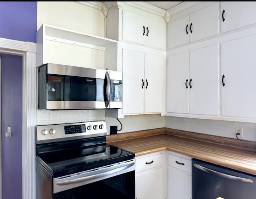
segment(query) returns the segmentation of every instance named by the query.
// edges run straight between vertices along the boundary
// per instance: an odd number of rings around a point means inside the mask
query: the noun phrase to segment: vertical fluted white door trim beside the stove
[[[36,198],[36,53],[26,52],[23,65],[22,193]]]

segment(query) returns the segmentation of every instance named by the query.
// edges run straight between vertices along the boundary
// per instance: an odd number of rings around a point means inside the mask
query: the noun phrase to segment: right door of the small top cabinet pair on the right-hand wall
[[[190,25],[190,42],[218,34],[218,2],[190,14]]]

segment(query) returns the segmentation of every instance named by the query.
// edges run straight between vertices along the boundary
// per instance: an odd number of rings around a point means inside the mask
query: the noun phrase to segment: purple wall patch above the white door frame
[[[0,2],[0,38],[36,43],[37,2]]]

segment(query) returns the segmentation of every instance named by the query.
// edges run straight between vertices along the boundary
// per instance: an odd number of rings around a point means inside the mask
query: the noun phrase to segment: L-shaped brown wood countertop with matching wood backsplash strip
[[[106,140],[136,157],[169,150],[256,175],[256,142],[252,141],[169,128],[107,135]]]

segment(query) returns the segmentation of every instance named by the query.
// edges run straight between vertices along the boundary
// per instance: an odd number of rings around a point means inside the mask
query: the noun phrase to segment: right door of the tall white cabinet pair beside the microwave
[[[144,113],[163,111],[163,68],[162,56],[145,54]]]

